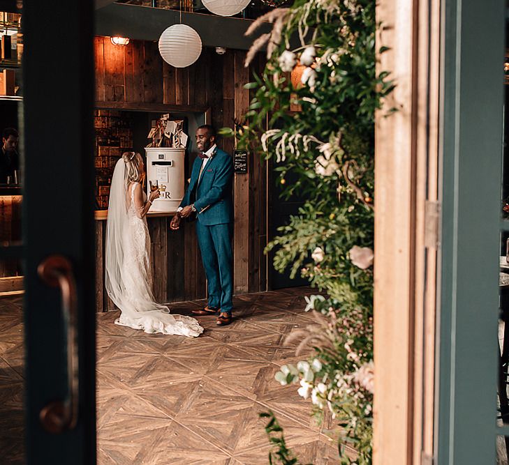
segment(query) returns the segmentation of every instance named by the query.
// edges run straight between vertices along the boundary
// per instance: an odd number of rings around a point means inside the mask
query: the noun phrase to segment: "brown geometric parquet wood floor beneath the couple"
[[[118,312],[98,314],[98,464],[268,464],[258,414],[269,409],[301,463],[337,464],[332,420],[316,425],[297,386],[274,381],[281,365],[302,359],[283,340],[313,323],[303,312],[311,292],[237,296],[233,323],[199,317],[205,333],[196,339],[147,335],[115,325]],[[204,303],[171,307],[190,314]],[[0,450],[12,464],[22,463],[21,319],[20,298],[0,300]]]

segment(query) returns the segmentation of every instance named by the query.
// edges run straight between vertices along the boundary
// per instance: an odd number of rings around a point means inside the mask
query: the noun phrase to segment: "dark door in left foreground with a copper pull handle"
[[[93,8],[23,1],[28,464],[96,462]]]

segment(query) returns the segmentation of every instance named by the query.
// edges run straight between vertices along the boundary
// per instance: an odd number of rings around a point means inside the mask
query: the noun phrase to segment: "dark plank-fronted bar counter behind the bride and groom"
[[[207,296],[205,271],[196,241],[194,222],[183,221],[170,230],[175,213],[149,213],[154,296],[158,302],[179,302]],[[114,310],[104,289],[105,236],[108,211],[96,211],[96,312]]]

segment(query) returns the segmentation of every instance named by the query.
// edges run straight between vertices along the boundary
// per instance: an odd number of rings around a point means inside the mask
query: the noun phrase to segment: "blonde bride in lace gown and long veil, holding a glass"
[[[200,335],[196,319],[170,314],[154,301],[150,270],[147,211],[159,192],[149,199],[142,188],[145,166],[139,153],[126,152],[115,165],[106,226],[106,291],[121,311],[115,321],[145,333]]]

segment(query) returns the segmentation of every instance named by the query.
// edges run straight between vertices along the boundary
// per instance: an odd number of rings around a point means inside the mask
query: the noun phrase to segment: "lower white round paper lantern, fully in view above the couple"
[[[192,65],[202,52],[202,40],[192,27],[173,24],[159,38],[159,53],[163,60],[175,68]]]

